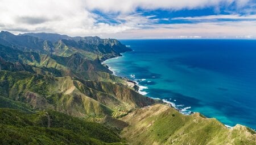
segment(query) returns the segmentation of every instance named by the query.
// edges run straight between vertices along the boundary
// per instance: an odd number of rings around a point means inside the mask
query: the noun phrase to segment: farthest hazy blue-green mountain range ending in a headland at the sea
[[[0,32],[0,44],[22,51],[71,56],[80,53],[86,59],[101,61],[121,56],[120,53],[131,51],[130,48],[115,39],[100,39],[96,37],[69,37],[59,34],[20,34],[14,35],[7,31]]]

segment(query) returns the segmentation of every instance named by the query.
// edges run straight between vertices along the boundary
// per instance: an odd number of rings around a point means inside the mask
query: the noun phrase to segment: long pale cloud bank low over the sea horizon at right
[[[170,38],[251,38],[256,36],[256,20],[203,22],[187,24],[156,24],[154,28],[127,30],[108,36],[119,39],[170,39]],[[104,36],[104,35],[103,35]],[[195,37],[197,36],[197,37]]]

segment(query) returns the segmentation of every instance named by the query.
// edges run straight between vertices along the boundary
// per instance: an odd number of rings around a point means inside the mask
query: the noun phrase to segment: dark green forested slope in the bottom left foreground
[[[34,114],[0,109],[1,144],[123,144],[118,134],[99,123],[53,110]]]

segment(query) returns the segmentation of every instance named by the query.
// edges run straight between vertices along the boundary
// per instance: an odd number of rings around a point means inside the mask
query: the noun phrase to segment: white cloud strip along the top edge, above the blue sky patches
[[[250,0],[87,0],[86,7],[90,10],[98,9],[104,12],[133,13],[136,9],[147,10],[167,9],[201,9],[210,6],[230,5],[237,7],[247,5]]]

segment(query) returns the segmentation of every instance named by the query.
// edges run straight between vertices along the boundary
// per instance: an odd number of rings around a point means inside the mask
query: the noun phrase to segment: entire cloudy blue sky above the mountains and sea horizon
[[[0,0],[0,30],[117,39],[256,39],[256,0]]]

